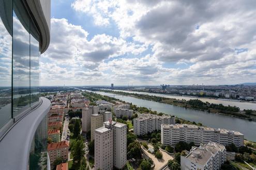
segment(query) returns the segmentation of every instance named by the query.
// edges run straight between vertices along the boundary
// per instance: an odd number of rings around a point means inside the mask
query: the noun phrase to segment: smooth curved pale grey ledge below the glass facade
[[[42,103],[14,124],[0,142],[1,169],[27,169],[29,151],[36,129],[50,110],[50,100]]]

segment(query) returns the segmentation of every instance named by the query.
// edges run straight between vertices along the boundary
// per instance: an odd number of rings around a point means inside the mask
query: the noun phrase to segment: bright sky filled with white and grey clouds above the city
[[[256,81],[256,1],[54,0],[41,85]]]

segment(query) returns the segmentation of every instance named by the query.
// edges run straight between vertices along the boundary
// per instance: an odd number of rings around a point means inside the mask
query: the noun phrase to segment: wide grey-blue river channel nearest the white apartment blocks
[[[253,121],[250,122],[248,120],[243,120],[241,118],[236,118],[232,116],[213,114],[213,113],[208,113],[208,112],[193,110],[193,109],[186,109],[183,107],[158,103],[155,101],[144,100],[144,99],[139,99],[139,98],[130,97],[130,96],[118,96],[118,95],[114,96],[112,93],[105,93],[105,92],[98,92],[98,91],[95,93],[115,97],[140,107],[152,108],[153,111],[155,110],[157,112],[163,112],[166,114],[175,115],[179,118],[183,118],[184,120],[188,120],[191,122],[193,121],[197,123],[200,122],[205,126],[209,126],[213,128],[224,128],[224,129],[236,130],[243,133],[245,135],[245,139],[256,141],[256,132],[255,132],[256,122],[253,122]],[[136,93],[140,93],[140,92],[136,92]],[[148,93],[148,94],[153,95],[152,93]],[[157,94],[157,95],[162,95],[162,94]],[[164,96],[168,96],[168,95],[164,95]],[[177,97],[182,97],[182,96],[177,96]],[[176,98],[176,96],[171,98]],[[232,102],[230,101],[230,103]],[[241,104],[244,104],[244,103],[241,103]],[[254,108],[254,110],[256,109]]]

